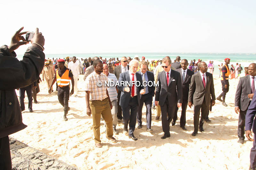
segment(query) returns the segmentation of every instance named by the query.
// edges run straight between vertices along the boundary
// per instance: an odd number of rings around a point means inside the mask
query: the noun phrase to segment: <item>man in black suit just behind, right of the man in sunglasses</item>
[[[180,73],[181,84],[182,84],[182,105],[181,105],[182,111],[180,116],[180,127],[183,130],[187,130],[185,128],[185,125],[186,125],[186,110],[188,106],[188,91],[189,91],[190,80],[194,72],[188,69],[187,59],[181,60],[180,65],[181,65],[181,68],[176,70]],[[177,112],[178,112],[178,107],[176,107],[175,109],[172,126],[175,125],[175,122],[177,120]]]

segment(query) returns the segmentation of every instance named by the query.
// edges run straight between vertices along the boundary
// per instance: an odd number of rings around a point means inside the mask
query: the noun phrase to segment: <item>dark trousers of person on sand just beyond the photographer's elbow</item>
[[[31,85],[27,87],[20,88],[20,108],[21,110],[25,110],[25,104],[24,104],[24,99],[25,99],[25,91],[27,92],[28,96],[28,110],[32,110],[32,87]]]

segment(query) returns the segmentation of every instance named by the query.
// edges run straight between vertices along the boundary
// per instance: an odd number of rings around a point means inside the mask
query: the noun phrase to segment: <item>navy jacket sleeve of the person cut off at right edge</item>
[[[253,119],[256,114],[256,91],[254,92],[252,101],[245,115],[245,130],[252,129]],[[253,129],[252,129],[253,130]]]

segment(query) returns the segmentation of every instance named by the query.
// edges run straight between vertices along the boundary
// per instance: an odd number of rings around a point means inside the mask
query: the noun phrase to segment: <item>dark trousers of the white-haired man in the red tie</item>
[[[129,136],[133,135],[136,125],[136,115],[138,109],[138,96],[131,97],[127,107],[122,107],[123,111],[123,122],[124,124],[129,123]],[[130,111],[131,110],[131,111]],[[130,122],[129,122],[130,121]]]

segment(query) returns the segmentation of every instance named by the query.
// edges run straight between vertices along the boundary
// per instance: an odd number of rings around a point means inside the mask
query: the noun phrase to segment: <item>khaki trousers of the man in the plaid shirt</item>
[[[100,116],[106,121],[107,137],[113,137],[113,118],[111,109],[109,106],[108,98],[99,101],[90,101],[90,107],[92,110],[92,122],[93,122],[93,134],[95,143],[100,143]]]

